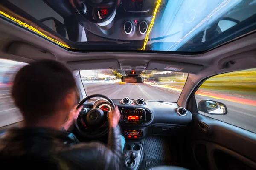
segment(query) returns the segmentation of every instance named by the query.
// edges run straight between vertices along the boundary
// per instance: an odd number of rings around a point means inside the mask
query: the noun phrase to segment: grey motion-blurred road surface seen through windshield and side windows
[[[180,96],[180,91],[145,84],[90,83],[84,84],[84,88],[87,91],[87,95],[103,94],[111,99],[122,99],[123,97],[137,99],[142,97],[147,100],[177,102]],[[22,120],[18,109],[13,104],[10,93],[10,89],[0,90],[0,127]],[[256,132],[256,106],[196,95],[197,103],[205,99],[224,103],[227,106],[228,114],[209,115],[200,112],[201,114]]]

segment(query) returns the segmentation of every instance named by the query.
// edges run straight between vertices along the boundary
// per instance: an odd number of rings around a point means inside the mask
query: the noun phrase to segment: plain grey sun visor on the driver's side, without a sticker
[[[116,59],[75,61],[67,62],[67,65],[73,70],[120,69],[119,62]]]

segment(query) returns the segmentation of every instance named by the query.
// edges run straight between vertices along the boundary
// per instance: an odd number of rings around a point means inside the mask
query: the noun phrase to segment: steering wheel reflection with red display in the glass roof
[[[76,10],[87,21],[102,24],[113,20],[120,0],[73,0]]]

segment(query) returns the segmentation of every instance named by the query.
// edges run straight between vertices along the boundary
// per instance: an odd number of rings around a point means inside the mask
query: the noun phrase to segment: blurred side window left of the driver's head
[[[24,65],[26,63],[0,59],[0,127],[23,119],[13,103],[11,90],[15,74]]]

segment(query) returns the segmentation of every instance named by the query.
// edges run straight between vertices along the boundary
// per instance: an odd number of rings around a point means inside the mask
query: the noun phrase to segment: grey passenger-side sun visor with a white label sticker
[[[183,73],[197,73],[203,69],[203,65],[187,64],[182,62],[169,62],[169,61],[157,61],[151,60],[148,63],[147,70],[166,70]]]

